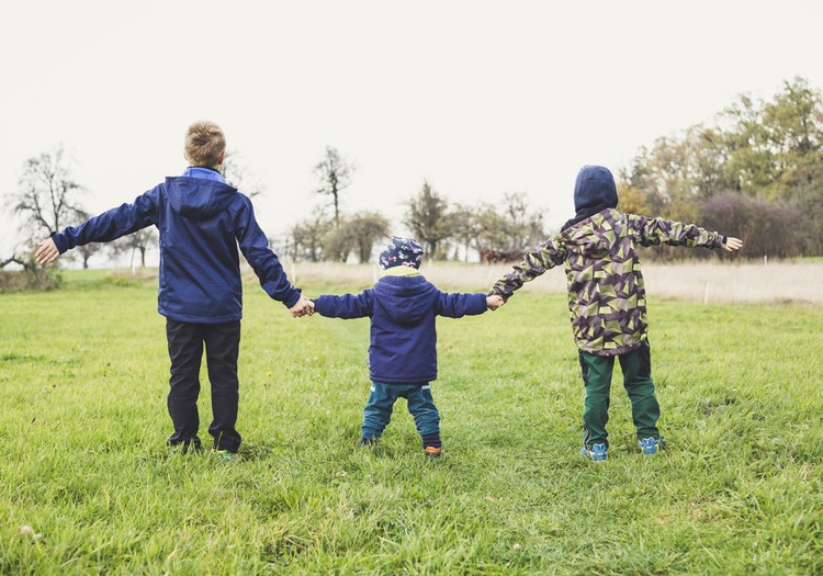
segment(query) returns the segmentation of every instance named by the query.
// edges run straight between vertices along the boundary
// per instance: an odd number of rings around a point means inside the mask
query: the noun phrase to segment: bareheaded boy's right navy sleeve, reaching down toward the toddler
[[[255,210],[248,196],[241,195],[243,205],[236,216],[236,237],[243,256],[260,280],[260,286],[273,300],[288,307],[300,300],[300,290],[286,278],[278,256],[269,248],[266,234],[255,218]]]

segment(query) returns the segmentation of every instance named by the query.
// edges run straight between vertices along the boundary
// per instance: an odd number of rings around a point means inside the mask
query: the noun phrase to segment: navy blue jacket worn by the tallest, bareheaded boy
[[[260,285],[274,300],[300,300],[280,260],[268,247],[251,201],[206,168],[189,168],[77,227],[52,236],[60,253],[89,242],[106,242],[155,225],[160,231],[157,310],[171,320],[223,324],[243,316],[237,247]]]

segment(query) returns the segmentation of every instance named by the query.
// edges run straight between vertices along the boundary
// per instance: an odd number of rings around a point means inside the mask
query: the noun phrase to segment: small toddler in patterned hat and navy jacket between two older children
[[[460,318],[503,306],[499,296],[440,292],[419,268],[424,250],[412,238],[393,237],[380,255],[383,276],[358,295],[323,295],[309,301],[314,312],[329,318],[371,318],[369,370],[372,380],[363,410],[360,443],[374,443],[392,419],[397,398],[406,398],[408,411],[422,437],[426,454],[439,456],[440,413],[431,397],[437,379],[437,316]]]

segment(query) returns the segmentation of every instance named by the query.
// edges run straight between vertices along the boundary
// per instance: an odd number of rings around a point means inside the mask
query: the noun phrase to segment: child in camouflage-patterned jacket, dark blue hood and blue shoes
[[[546,270],[565,264],[568,310],[579,351],[586,399],[583,410],[584,445],[591,460],[607,459],[609,398],[615,358],[632,405],[638,441],[644,454],[663,448],[657,430],[659,405],[654,394],[646,335],[643,275],[635,245],[737,250],[737,238],[707,231],[692,224],[623,214],[611,172],[585,166],[574,190],[575,217],[562,230],[528,252],[522,263],[501,278],[489,294],[508,300]]]

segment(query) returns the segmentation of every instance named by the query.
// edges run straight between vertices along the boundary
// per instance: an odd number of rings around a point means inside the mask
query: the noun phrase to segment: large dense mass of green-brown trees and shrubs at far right
[[[712,124],[642,148],[620,180],[627,212],[725,231],[743,239],[744,256],[820,256],[820,90],[796,78],[768,102],[741,95]]]

